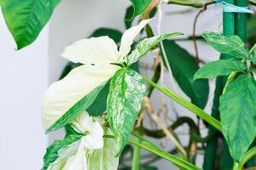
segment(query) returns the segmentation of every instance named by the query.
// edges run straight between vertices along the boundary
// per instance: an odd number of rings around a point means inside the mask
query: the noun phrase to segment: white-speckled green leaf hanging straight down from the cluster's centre
[[[117,156],[134,128],[145,91],[144,81],[136,71],[122,69],[112,77],[107,113],[117,139]]]

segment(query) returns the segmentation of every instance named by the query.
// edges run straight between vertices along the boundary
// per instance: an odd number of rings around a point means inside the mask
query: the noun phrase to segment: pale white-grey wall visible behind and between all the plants
[[[36,42],[29,47],[15,50],[14,39],[0,14],[0,168],[4,170],[35,170],[43,166],[43,154],[48,144],[63,135],[61,131],[45,135],[41,124],[40,107],[43,94],[51,82],[57,81],[67,61],[60,57],[65,46],[88,37],[100,27],[111,27],[124,31],[123,22],[126,8],[130,3],[120,0],[63,0],[54,11],[48,25],[43,29]],[[189,9],[189,10],[188,10]],[[192,10],[191,10],[192,9]],[[180,31],[185,37],[192,35],[193,22],[199,9],[176,5],[162,6],[161,33]],[[177,13],[183,11],[182,13]],[[151,22],[157,33],[158,13]],[[221,31],[222,14],[218,5],[213,5],[197,21],[196,34],[203,31]],[[134,22],[135,24],[135,22]],[[179,41],[191,54],[195,54],[191,41]],[[219,54],[204,42],[198,41],[199,56],[205,62],[218,59]],[[151,54],[143,60],[151,65]],[[151,71],[143,69],[145,75]],[[185,96],[166,74],[164,82],[178,94]],[[211,111],[213,82],[206,111]],[[153,104],[159,105],[159,95],[154,92]],[[188,98],[187,98],[188,99]],[[180,115],[190,114],[179,105],[166,99],[167,105],[173,105]],[[185,131],[186,127],[178,129]],[[202,134],[207,130],[202,127]],[[181,134],[186,143],[185,135]],[[164,150],[174,147],[167,139],[156,141]],[[202,156],[196,160],[202,166]],[[175,169],[168,161],[154,163],[160,170]]]

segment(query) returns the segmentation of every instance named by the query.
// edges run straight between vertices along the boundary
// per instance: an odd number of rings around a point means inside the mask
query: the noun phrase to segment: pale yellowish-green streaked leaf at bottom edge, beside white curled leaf
[[[109,130],[111,131],[111,130]],[[111,135],[110,132],[105,133]],[[116,170],[119,157],[115,157],[117,143],[115,139],[104,138],[104,146],[100,150],[94,150],[88,156],[89,170]]]

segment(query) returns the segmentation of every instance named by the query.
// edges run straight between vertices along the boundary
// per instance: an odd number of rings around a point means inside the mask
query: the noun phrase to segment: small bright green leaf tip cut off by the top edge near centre
[[[133,3],[134,14],[132,15],[133,19],[135,16],[142,14],[145,9],[151,4],[151,0],[130,0]]]

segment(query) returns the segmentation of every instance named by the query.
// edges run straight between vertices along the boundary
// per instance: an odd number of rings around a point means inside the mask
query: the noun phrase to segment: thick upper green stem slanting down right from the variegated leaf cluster
[[[196,116],[201,117],[203,120],[211,124],[213,127],[217,128],[219,132],[221,132],[220,122],[214,119],[212,116],[209,116],[208,113],[206,113],[205,111],[202,111],[202,109],[192,104],[188,100],[182,98],[178,94],[175,94],[173,91],[171,91],[167,87],[160,87],[155,82],[151,82],[151,80],[149,80],[146,77],[143,77],[143,79],[145,82],[149,83],[151,86],[153,86],[154,88],[162,92],[162,94],[165,94],[169,98],[174,99],[177,103],[179,103],[180,105],[183,105],[186,109],[188,109],[189,111],[192,111],[193,113],[196,114]]]

